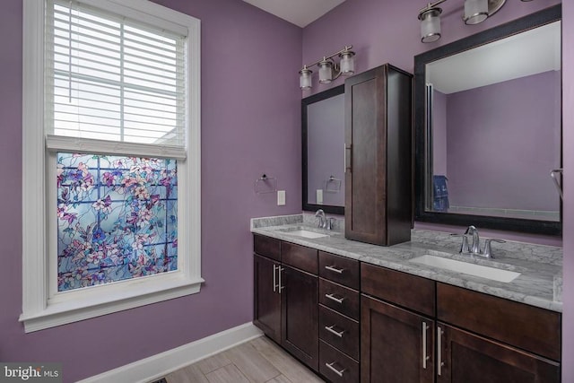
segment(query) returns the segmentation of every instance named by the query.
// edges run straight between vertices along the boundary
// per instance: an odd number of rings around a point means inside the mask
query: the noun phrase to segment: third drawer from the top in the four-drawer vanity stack
[[[319,306],[319,339],[359,360],[359,322]]]

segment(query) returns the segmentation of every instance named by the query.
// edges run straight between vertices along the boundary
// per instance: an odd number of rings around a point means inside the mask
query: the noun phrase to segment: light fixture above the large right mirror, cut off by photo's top
[[[421,41],[433,42],[440,39],[440,13],[439,4],[447,0],[437,0],[427,4],[419,11],[421,21]],[[522,0],[531,1],[531,0]],[[478,24],[498,12],[506,0],[465,0],[465,13],[463,22],[466,25]]]

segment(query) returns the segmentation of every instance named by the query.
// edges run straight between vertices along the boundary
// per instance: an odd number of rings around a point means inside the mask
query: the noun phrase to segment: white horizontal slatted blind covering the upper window
[[[74,1],[47,13],[48,148],[185,157],[186,36]]]

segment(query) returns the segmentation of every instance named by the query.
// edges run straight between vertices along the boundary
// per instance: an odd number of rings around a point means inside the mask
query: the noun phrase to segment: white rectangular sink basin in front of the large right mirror
[[[517,276],[520,275],[520,273],[516,273],[514,271],[502,270],[499,268],[483,265],[475,265],[467,262],[457,261],[455,259],[431,256],[428,254],[422,257],[413,258],[410,261],[414,262],[415,264],[430,265],[433,267],[439,267],[463,274],[480,276],[481,278],[487,278],[491,279],[492,281],[505,283],[514,281]]]

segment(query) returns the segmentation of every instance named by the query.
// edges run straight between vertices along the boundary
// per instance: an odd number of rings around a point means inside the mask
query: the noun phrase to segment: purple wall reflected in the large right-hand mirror
[[[448,94],[450,205],[560,209],[550,178],[561,163],[560,75],[550,71]]]

